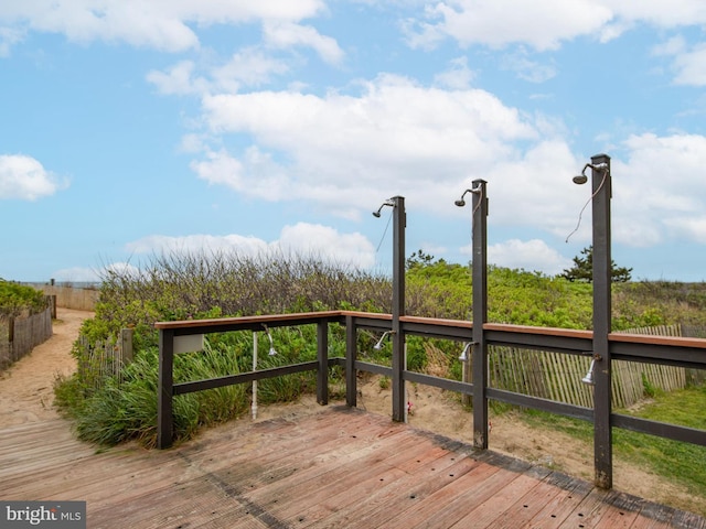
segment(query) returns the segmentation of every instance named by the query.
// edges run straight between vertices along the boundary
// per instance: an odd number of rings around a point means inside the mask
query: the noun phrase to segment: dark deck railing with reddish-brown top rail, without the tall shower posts
[[[256,332],[263,331],[264,324],[267,325],[267,327],[317,325],[317,360],[242,373],[215,379],[193,380],[181,384],[173,382],[172,369],[175,338],[181,336],[233,331]],[[471,322],[466,321],[402,316],[399,319],[399,333],[402,334],[403,339],[407,335],[414,335],[454,342],[471,342],[473,336],[473,325]],[[343,325],[345,327],[345,357],[329,357],[329,325]],[[393,361],[393,367],[359,360],[359,331],[373,331],[377,333],[392,331],[392,316],[389,314],[332,311],[218,320],[160,322],[156,324],[156,327],[159,330],[160,335],[158,418],[158,446],[160,449],[167,449],[171,446],[173,442],[172,400],[179,395],[234,384],[250,382],[253,380],[261,380],[292,373],[317,371],[317,401],[320,404],[327,404],[329,400],[328,375],[331,366],[342,366],[345,370],[346,403],[351,407],[355,407],[357,403],[356,374],[357,371],[367,371],[385,375],[391,378],[398,377],[403,380],[403,385],[398,388],[393,387],[393,390],[403,391],[403,395],[404,382],[424,384],[469,395],[474,399],[479,396],[483,396],[485,400],[483,402],[475,401],[474,407],[486,407],[488,400],[496,400],[510,404],[582,419],[592,422],[595,428],[603,428],[608,430],[611,428],[622,428],[676,441],[706,445],[706,431],[704,430],[695,430],[692,428],[650,421],[613,412],[601,414],[597,412],[596,408],[557,402],[549,399],[490,387],[488,384],[489,377],[486,370],[485,373],[477,373],[477,369],[472,378],[473,381],[463,382],[407,370],[404,360],[397,363]],[[486,323],[482,327],[483,339],[486,345],[521,347],[523,349],[556,352],[564,355],[575,356],[590,356],[592,350],[593,336],[590,331],[528,327],[491,323]],[[706,339],[618,333],[611,333],[608,338],[609,353],[611,357],[617,360],[677,366],[688,369],[706,369]],[[475,363],[474,366],[475,365],[482,366],[484,364]],[[395,366],[400,367],[396,368]],[[478,385],[479,380],[483,385],[482,387]],[[395,398],[396,397],[393,396],[393,399]],[[486,423],[474,424],[473,429],[475,434],[479,434],[480,431],[480,434],[488,440]],[[599,456],[600,454],[597,453],[597,457]],[[599,463],[601,464],[601,467],[605,467],[606,464],[611,467],[612,460],[608,462],[597,461],[597,465]]]

